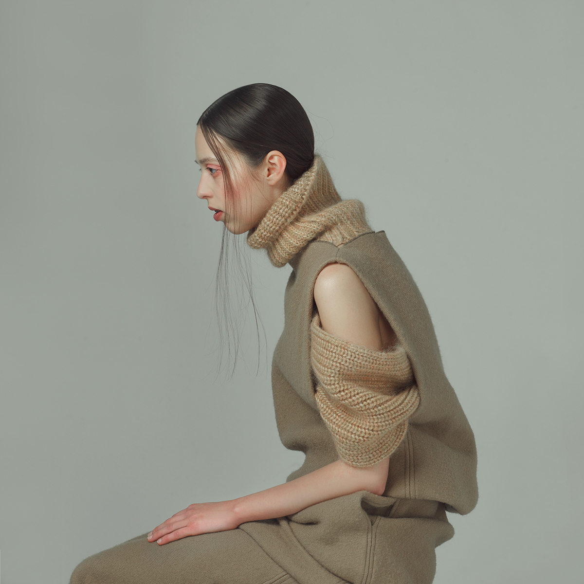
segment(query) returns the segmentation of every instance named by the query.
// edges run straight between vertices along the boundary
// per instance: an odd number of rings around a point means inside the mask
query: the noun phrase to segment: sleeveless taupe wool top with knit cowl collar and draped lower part
[[[359,276],[407,355],[417,401],[403,436],[392,446],[383,496],[352,493],[289,517],[244,523],[241,529],[298,582],[431,582],[433,549],[453,534],[444,510],[464,514],[477,503],[477,456],[411,274],[385,232],[370,230],[363,204],[340,199],[318,156],[249,232],[248,244],[265,248],[274,265],[293,268],[284,297],[284,331],[272,360],[281,442],[305,454],[288,481],[339,458],[338,440],[317,402],[314,354],[311,361],[318,318],[314,283],[324,266],[344,263]]]

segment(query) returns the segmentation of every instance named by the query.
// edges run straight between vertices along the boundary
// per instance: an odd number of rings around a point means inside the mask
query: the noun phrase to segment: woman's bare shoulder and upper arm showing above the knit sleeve
[[[355,345],[382,349],[380,311],[349,266],[326,265],[315,281],[314,301],[326,332]]]

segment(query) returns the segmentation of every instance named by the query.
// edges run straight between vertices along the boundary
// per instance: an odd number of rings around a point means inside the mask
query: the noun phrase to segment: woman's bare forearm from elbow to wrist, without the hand
[[[303,477],[232,501],[238,523],[274,519],[357,491],[383,494],[389,458],[356,468],[337,460]]]

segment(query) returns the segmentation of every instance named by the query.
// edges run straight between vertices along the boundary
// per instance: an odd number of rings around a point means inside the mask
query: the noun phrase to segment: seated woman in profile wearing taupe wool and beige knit
[[[446,510],[477,502],[476,451],[412,277],[340,199],[284,89],[218,99],[196,156],[215,221],[293,268],[272,387],[280,438],[306,459],[283,485],[189,505],[87,558],[71,582],[432,582]]]

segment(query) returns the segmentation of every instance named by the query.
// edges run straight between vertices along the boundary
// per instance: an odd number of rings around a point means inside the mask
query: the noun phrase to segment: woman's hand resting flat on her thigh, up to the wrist
[[[233,501],[193,503],[155,527],[148,534],[148,541],[163,545],[182,537],[235,529],[239,523]]]

